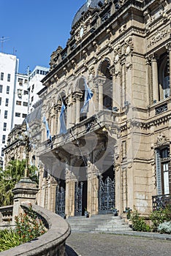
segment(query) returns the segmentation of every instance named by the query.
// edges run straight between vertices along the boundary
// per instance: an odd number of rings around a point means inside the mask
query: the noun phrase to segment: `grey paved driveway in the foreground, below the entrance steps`
[[[171,235],[134,231],[72,233],[66,246],[68,256],[170,256]]]

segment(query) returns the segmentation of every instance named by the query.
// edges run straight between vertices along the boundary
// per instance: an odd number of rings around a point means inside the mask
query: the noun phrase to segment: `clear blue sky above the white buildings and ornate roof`
[[[49,67],[58,45],[66,46],[72,19],[86,0],[0,0],[3,52],[16,53],[19,72]],[[1,47],[1,45],[0,45]],[[0,48],[1,51],[1,48]]]

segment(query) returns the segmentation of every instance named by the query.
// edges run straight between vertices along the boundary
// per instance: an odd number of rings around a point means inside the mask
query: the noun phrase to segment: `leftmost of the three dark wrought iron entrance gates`
[[[65,190],[64,187],[56,187],[56,214],[65,217]]]

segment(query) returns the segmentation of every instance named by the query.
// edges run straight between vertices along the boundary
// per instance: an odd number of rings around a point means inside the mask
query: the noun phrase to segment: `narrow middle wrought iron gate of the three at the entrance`
[[[75,216],[82,216],[83,182],[75,183]]]

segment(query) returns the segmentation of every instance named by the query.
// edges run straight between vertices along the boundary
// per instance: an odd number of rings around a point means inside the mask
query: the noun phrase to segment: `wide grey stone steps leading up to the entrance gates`
[[[113,214],[98,214],[90,218],[69,217],[66,221],[69,222],[72,232],[113,233],[132,230],[124,219],[114,217]]]

